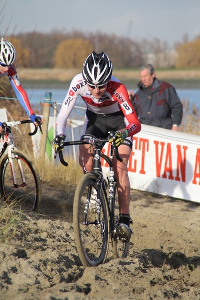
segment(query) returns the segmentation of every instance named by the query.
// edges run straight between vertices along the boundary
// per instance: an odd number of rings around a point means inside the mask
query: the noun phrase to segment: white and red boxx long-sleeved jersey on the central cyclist
[[[82,73],[76,75],[70,84],[67,95],[62,103],[60,112],[56,118],[56,129],[58,134],[64,134],[67,118],[72,111],[78,96],[81,96],[87,109],[97,114],[112,114],[122,111],[126,119],[128,136],[132,136],[141,130],[140,121],[130,102],[125,85],[116,77],[111,76],[108,87],[101,98],[96,99],[90,93]]]

